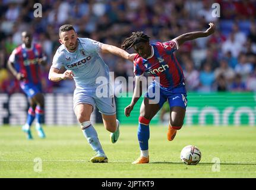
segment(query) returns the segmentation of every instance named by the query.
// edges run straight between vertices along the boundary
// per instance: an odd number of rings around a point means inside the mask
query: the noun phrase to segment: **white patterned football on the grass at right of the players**
[[[201,160],[201,152],[194,145],[187,145],[181,151],[181,160],[187,165],[196,165]]]

